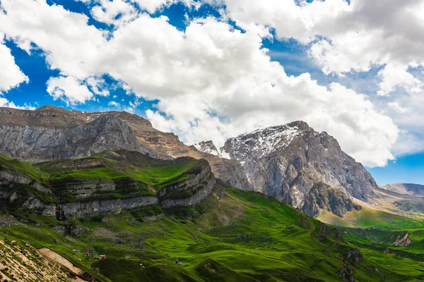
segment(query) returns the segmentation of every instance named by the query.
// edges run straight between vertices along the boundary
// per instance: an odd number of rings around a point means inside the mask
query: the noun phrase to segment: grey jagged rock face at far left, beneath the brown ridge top
[[[139,145],[134,131],[120,118],[103,115],[69,130],[36,126],[0,126],[0,152],[25,160],[88,157],[105,150],[127,149],[155,157]]]

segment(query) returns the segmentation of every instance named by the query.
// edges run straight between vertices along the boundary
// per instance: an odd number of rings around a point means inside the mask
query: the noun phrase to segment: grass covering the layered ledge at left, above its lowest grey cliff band
[[[52,192],[40,192],[31,185],[23,184],[6,185],[2,189],[13,190],[23,199],[35,197],[48,204],[154,196],[159,190],[182,183],[199,173],[203,163],[204,160],[189,157],[170,161],[126,151],[104,152],[83,159],[64,159],[40,164],[0,156],[0,168],[10,173],[24,174],[28,179],[32,178],[33,181],[51,188]],[[90,191],[91,195],[84,197],[73,192],[73,187],[84,185],[114,187],[95,189]],[[194,189],[171,191],[167,198],[190,197]]]

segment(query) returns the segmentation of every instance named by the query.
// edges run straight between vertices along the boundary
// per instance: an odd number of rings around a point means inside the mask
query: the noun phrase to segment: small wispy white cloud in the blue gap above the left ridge
[[[85,103],[93,99],[93,93],[88,90],[86,85],[71,76],[60,76],[58,78],[49,78],[47,81],[47,92],[54,100],[62,99],[66,104],[75,105]]]

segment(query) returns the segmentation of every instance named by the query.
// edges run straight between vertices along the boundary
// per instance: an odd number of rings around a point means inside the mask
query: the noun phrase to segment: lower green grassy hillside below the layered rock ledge
[[[158,213],[167,216],[143,219]],[[341,281],[343,265],[357,281],[424,279],[419,257],[384,252],[411,248],[393,246],[388,231],[333,228],[272,197],[233,188],[196,208],[151,207],[69,222],[23,211],[15,218],[0,228],[0,239],[49,247],[100,281]],[[52,230],[80,224],[88,231],[79,238]],[[421,237],[414,234],[411,250],[418,250]],[[376,243],[377,235],[387,240]],[[364,262],[347,257],[355,249]]]

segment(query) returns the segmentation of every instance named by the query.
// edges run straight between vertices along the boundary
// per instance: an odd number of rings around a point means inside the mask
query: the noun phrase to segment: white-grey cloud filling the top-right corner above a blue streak
[[[352,0],[351,4],[343,0],[300,1],[300,5],[293,0],[223,2],[227,15],[242,27],[252,23],[274,27],[277,37],[305,44],[324,37],[314,44],[326,51],[324,60],[318,60],[326,71],[367,71],[374,63],[424,61],[420,48],[424,43],[423,0],[384,4],[368,0]]]

